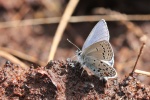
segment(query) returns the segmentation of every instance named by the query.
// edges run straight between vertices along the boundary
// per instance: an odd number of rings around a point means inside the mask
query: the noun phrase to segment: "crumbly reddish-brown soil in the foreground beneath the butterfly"
[[[6,62],[0,71],[0,97],[11,100],[110,100],[150,99],[150,87],[136,74],[109,80],[89,76],[79,63],[76,67],[63,61],[51,61],[45,67],[23,69]]]

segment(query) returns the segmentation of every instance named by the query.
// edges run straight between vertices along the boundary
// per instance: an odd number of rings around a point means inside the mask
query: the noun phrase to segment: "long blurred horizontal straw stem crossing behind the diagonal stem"
[[[78,22],[94,22],[100,19],[105,19],[106,21],[149,21],[150,15],[126,15],[127,19],[118,17],[118,15],[91,15],[91,16],[72,16],[69,20],[70,23]],[[10,28],[10,27],[20,27],[28,25],[40,25],[40,24],[54,24],[59,23],[61,17],[53,18],[38,18],[38,19],[26,19],[26,20],[15,20],[0,22],[0,28]]]

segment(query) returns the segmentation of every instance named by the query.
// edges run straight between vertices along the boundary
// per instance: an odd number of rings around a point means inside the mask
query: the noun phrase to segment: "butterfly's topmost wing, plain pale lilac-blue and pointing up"
[[[82,47],[82,51],[90,45],[103,40],[109,41],[109,31],[104,19],[100,20],[92,29]]]

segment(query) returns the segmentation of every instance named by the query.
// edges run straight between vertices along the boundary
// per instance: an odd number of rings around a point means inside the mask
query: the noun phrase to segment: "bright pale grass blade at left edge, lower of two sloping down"
[[[19,59],[17,59],[16,57],[12,56],[11,54],[9,54],[5,51],[0,50],[0,56],[12,61],[13,63],[20,65],[21,67],[23,67],[25,69],[29,68],[26,64],[21,62]]]

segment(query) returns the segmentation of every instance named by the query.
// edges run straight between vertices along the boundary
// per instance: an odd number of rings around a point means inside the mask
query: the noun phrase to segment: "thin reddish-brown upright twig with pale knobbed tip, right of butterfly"
[[[141,48],[140,48],[140,52],[139,52],[139,54],[138,54],[138,57],[137,57],[137,59],[136,59],[136,62],[135,62],[135,65],[134,65],[134,67],[133,67],[133,70],[132,70],[131,74],[133,74],[134,71],[135,71],[136,65],[137,65],[137,63],[138,63],[138,60],[139,60],[139,58],[140,58],[140,56],[141,56],[141,54],[142,54],[143,48],[144,48],[144,46],[145,46],[145,42],[146,42],[146,40],[147,40],[147,37],[144,35],[144,36],[141,37],[140,40],[143,42],[143,44],[142,44],[142,46],[141,46]]]

